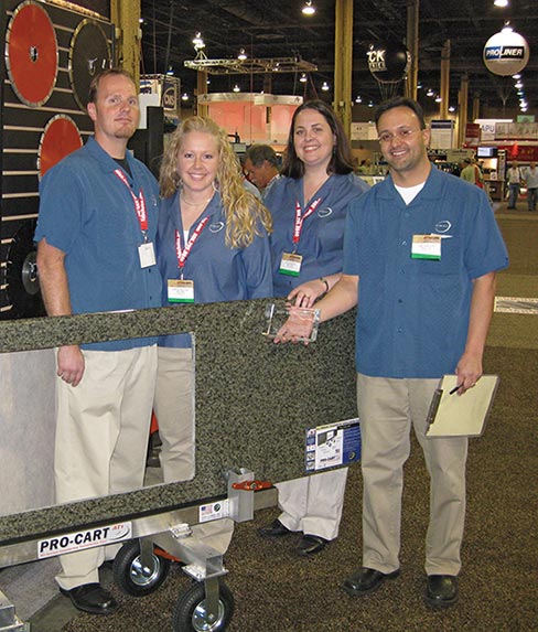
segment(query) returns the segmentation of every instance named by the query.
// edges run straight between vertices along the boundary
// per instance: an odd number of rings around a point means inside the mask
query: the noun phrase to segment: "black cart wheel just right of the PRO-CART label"
[[[127,594],[143,597],[157,590],[166,579],[170,560],[153,554],[153,568],[143,567],[138,540],[126,543],[112,565],[114,580]]]

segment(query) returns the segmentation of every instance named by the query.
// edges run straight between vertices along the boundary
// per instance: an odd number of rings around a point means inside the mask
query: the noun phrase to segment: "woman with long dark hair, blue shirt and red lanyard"
[[[354,175],[342,124],[323,101],[306,101],[293,114],[281,175],[263,200],[273,224],[275,296],[309,308],[342,276],[347,206],[368,189]],[[341,468],[280,483],[282,513],[260,534],[301,533],[300,555],[321,551],[337,536],[346,476]]]

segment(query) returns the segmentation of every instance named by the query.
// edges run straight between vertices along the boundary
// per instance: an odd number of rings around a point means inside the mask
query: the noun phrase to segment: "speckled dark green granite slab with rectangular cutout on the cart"
[[[354,313],[322,324],[309,346],[275,345],[261,335],[270,302],[0,323],[0,352],[193,331],[197,435],[193,481],[4,516],[0,545],[225,494],[230,468],[272,482],[302,475],[304,430],[356,416]]]

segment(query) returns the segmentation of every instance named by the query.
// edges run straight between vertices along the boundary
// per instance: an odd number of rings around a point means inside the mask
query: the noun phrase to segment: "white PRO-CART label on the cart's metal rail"
[[[57,535],[37,542],[37,559],[132,538],[132,524],[119,523]]]

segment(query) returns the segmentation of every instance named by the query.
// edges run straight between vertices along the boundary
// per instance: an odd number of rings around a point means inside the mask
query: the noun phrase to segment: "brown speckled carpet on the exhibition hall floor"
[[[538,297],[538,214],[499,213],[512,257],[498,294]],[[501,386],[485,433],[470,442],[467,518],[460,601],[434,611],[422,601],[428,474],[413,440],[405,469],[401,576],[367,597],[353,598],[342,580],[361,566],[358,467],[349,470],[340,537],[312,559],[294,553],[297,536],[272,542],[257,528],[278,515],[259,511],[236,526],[225,564],[235,598],[229,632],[527,631],[538,625],[538,489],[536,313],[499,313],[485,354]],[[329,396],[329,394],[327,394]],[[278,457],[276,457],[278,458]],[[192,581],[175,565],[153,594],[136,599],[112,587],[121,604],[112,617],[78,614],[64,632],[165,632]]]

